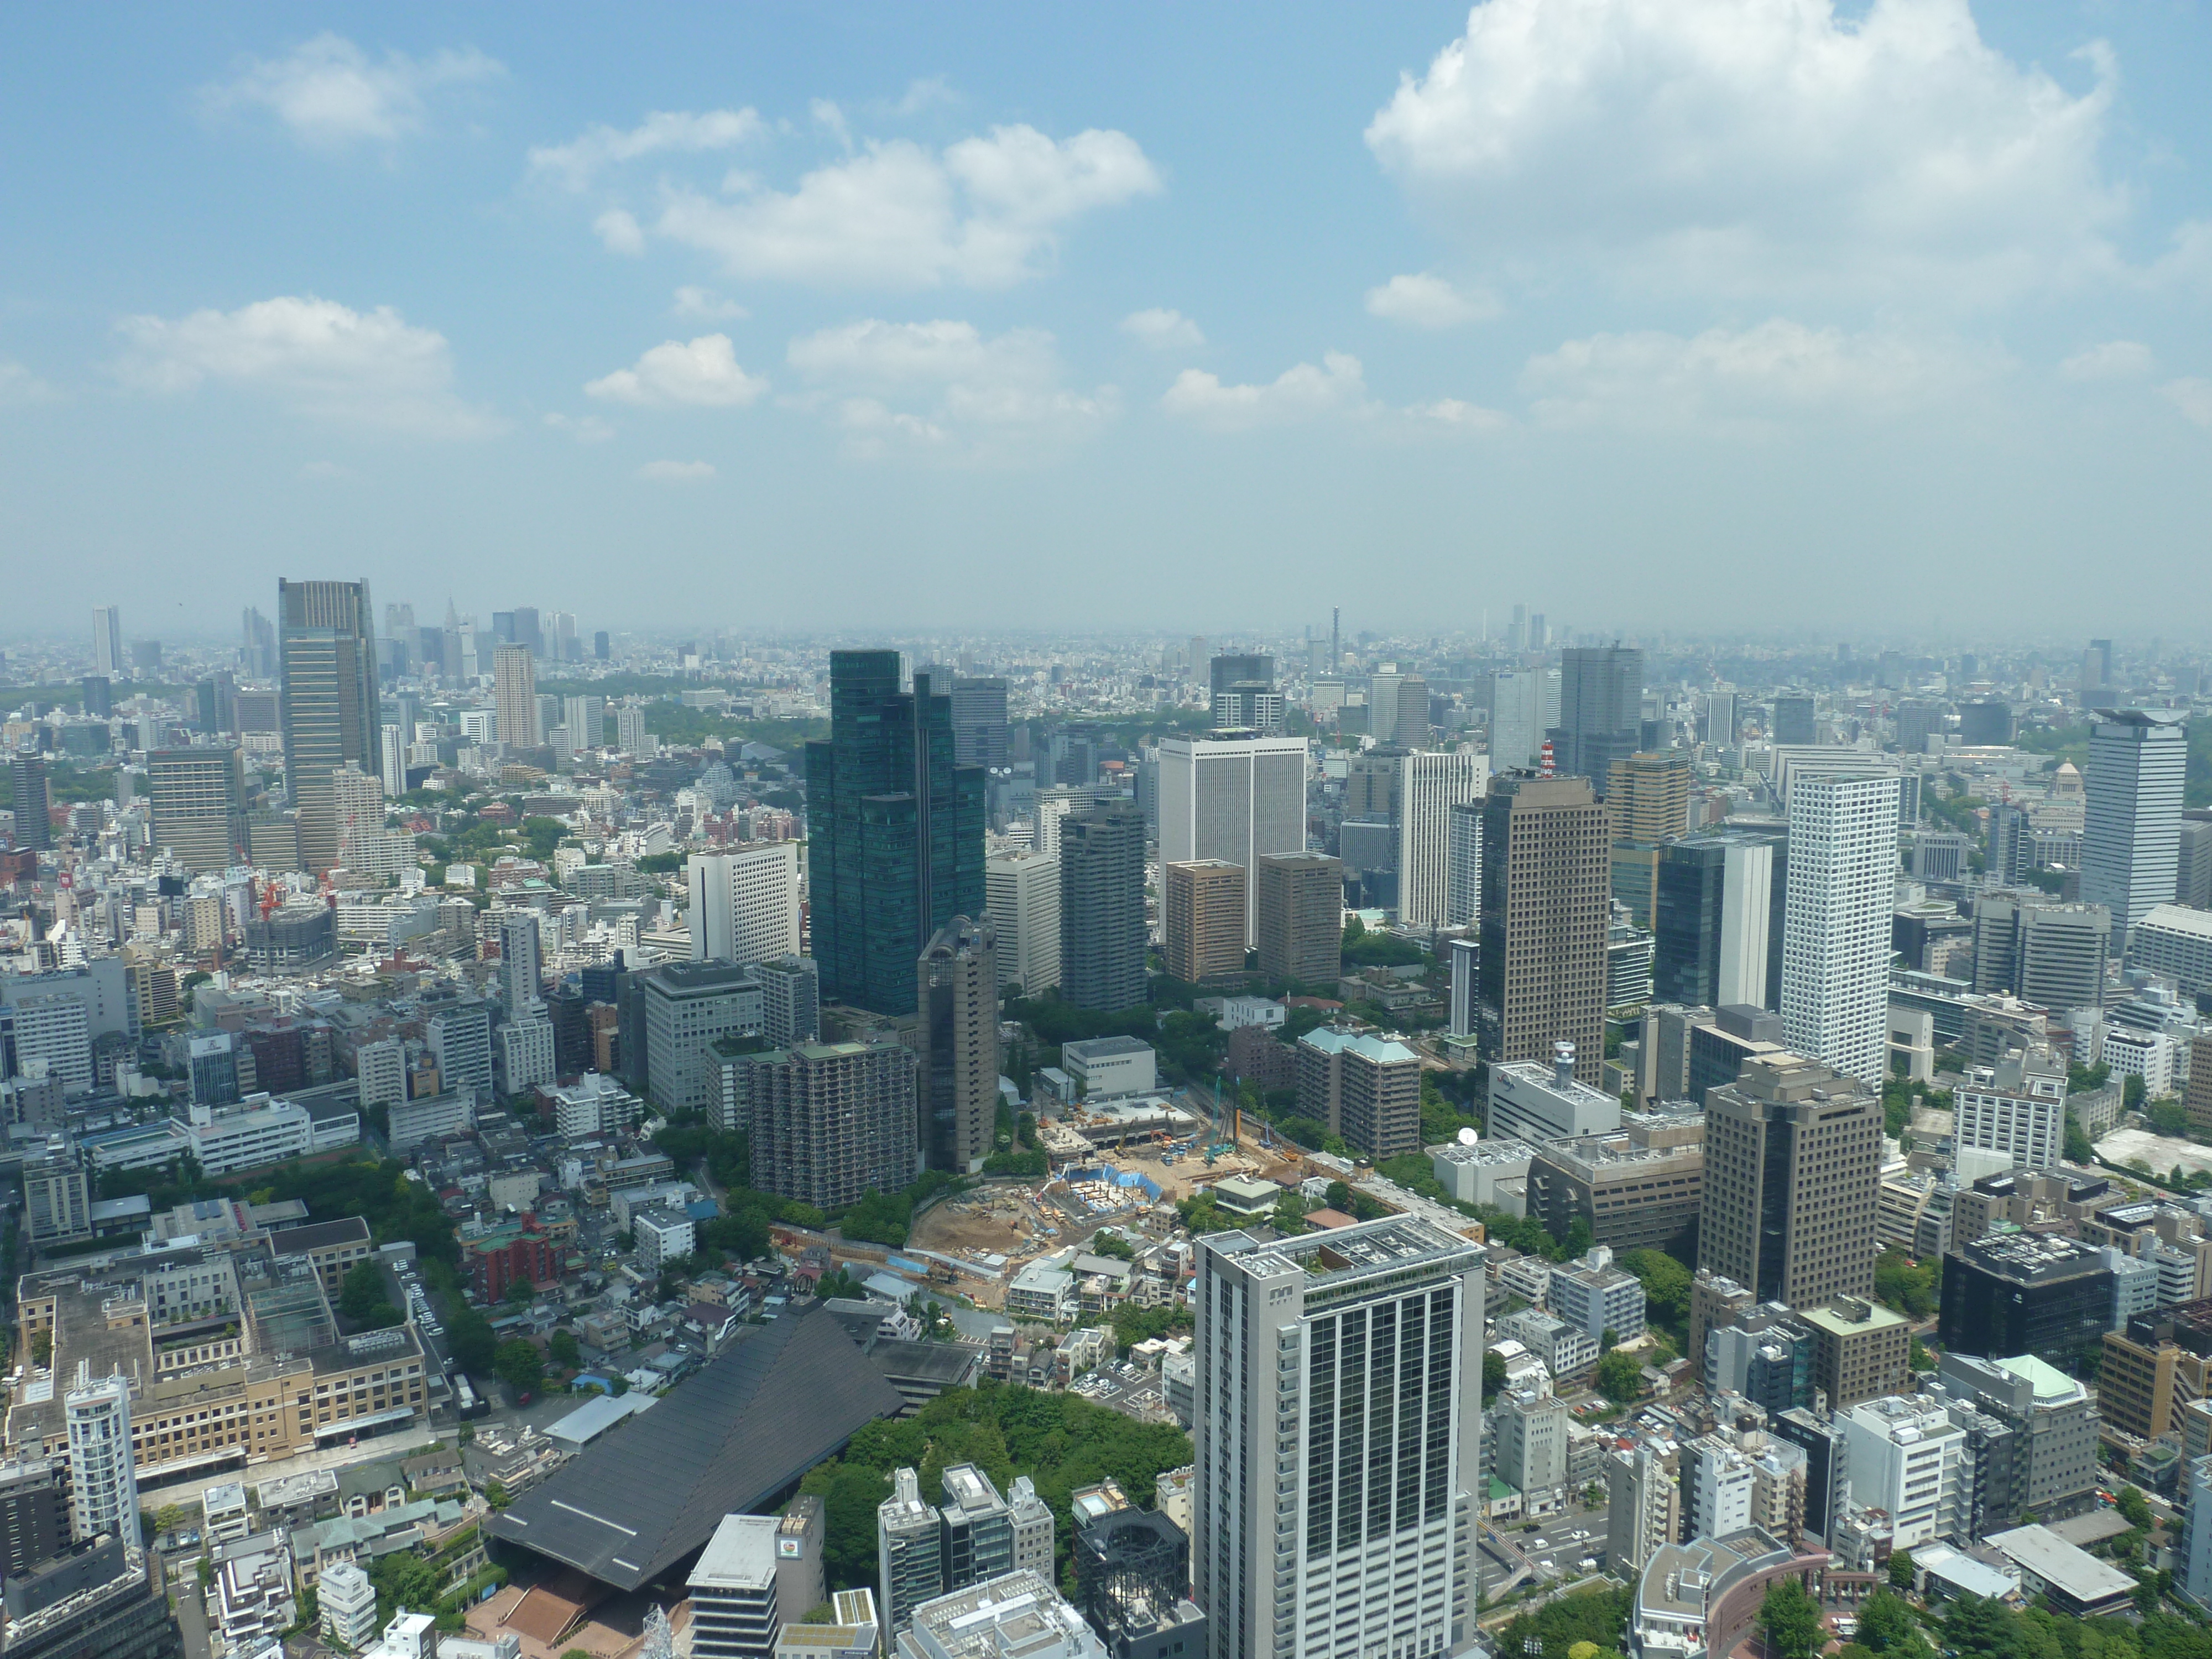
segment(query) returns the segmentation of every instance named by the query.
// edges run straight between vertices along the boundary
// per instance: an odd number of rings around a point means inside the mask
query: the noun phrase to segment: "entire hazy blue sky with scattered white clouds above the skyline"
[[[2201,637],[2208,69],[2181,0],[15,7],[7,608]]]

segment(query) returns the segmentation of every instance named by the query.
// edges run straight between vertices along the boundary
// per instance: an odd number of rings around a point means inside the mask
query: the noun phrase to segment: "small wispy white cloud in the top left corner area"
[[[292,137],[321,148],[392,144],[429,122],[427,93],[495,80],[507,69],[473,46],[416,60],[387,51],[372,60],[343,35],[323,33],[290,58],[254,58],[237,80],[204,86],[208,111],[257,106],[270,111]]]

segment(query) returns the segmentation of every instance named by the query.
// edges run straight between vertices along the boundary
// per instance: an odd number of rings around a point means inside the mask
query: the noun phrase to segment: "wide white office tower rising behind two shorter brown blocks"
[[[1245,945],[1259,945],[1259,860],[1305,852],[1303,737],[1166,737],[1159,743],[1159,863],[1245,867]]]

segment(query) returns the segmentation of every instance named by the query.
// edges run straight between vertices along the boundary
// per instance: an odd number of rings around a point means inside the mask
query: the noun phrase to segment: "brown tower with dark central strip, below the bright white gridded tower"
[[[1882,1097],[1803,1055],[1754,1055],[1705,1093],[1697,1265],[1756,1301],[1874,1294]]]

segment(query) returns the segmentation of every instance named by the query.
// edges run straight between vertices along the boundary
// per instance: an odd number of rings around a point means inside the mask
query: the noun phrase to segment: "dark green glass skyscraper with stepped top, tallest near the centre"
[[[982,916],[984,770],[953,763],[951,686],[898,690],[896,650],[830,653],[830,739],[807,743],[823,1002],[914,1013],[914,964]]]

